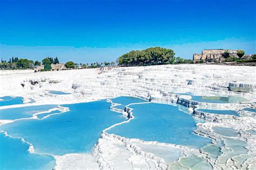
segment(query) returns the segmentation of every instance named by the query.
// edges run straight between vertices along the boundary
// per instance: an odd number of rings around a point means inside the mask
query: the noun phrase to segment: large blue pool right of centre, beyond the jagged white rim
[[[144,103],[130,105],[134,119],[115,126],[108,133],[145,141],[159,141],[200,148],[211,140],[193,133],[196,122],[191,115],[167,104]]]

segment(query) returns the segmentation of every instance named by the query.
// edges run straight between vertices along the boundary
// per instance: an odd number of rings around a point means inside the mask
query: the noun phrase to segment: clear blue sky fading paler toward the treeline
[[[203,49],[256,53],[255,0],[0,0],[0,58],[115,61],[161,46],[192,59]]]

